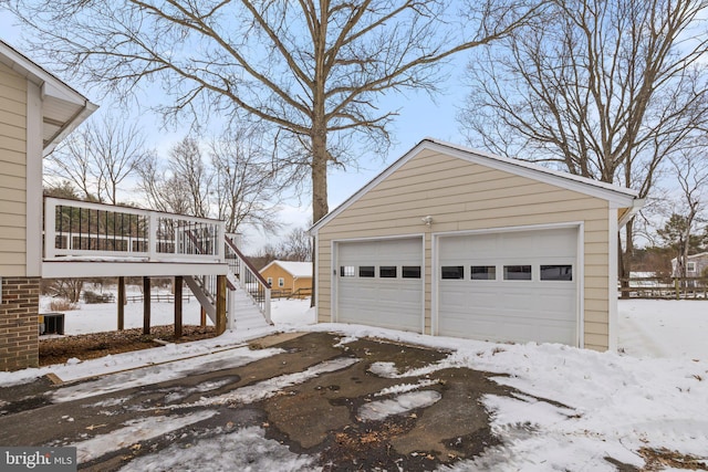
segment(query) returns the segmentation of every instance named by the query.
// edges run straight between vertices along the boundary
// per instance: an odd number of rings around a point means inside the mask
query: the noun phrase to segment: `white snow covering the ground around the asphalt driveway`
[[[142,305],[135,305],[142,323]],[[105,305],[103,307],[106,308]],[[157,312],[162,310],[154,307],[153,316],[157,317]],[[166,323],[169,323],[171,305],[164,310],[168,313]],[[108,313],[105,317],[97,314],[93,316],[108,321],[115,316],[110,310]],[[309,308],[309,301],[274,301],[272,317],[275,327],[272,331],[336,331],[344,335],[342,343],[363,336],[377,336],[449,349],[451,354],[448,357],[416,373],[434,375],[436,370],[447,367],[487,370],[499,374],[494,378],[499,384],[525,394],[487,396],[485,405],[493,412],[492,430],[502,439],[502,445],[487,450],[475,461],[445,468],[446,471],[615,470],[605,457],[641,468],[645,464],[641,457],[643,448],[665,448],[708,463],[708,343],[705,340],[708,338],[708,302],[620,301],[618,314],[621,354],[560,345],[503,345],[431,337],[356,325],[315,325],[312,324],[314,314]],[[69,315],[67,328],[74,323],[73,319],[77,322],[84,316]],[[175,364],[185,370],[206,365],[212,356],[246,361],[243,356],[247,354],[241,348],[243,343],[266,333],[226,333],[204,342],[42,369],[0,373],[0,385],[27,381],[49,371],[62,379],[74,379],[154,364],[150,376],[131,374],[128,370],[104,377],[100,380],[100,388],[107,391],[122,388],[126,382],[135,385],[136,381],[147,381],[147,378],[154,380],[154,376],[169,378],[170,375],[179,375]],[[206,355],[209,353],[215,354]],[[168,363],[175,358],[184,360]],[[377,375],[396,377],[406,374],[396,373],[385,364],[373,368]],[[73,395],[82,394],[74,391]],[[410,397],[406,397],[407,401],[414,403],[435,401],[434,398],[406,395]],[[539,398],[553,401],[540,401]],[[381,402],[376,413],[381,416],[382,410],[383,415],[395,415],[400,411],[400,402]],[[177,429],[180,424],[173,427]],[[145,423],[140,428],[146,430],[140,433],[150,434],[150,428],[154,427]],[[165,428],[169,429],[170,426],[159,426],[160,431]],[[215,458],[214,451],[220,451],[216,457],[228,454],[235,458],[238,455],[236,452],[249,448],[268,453],[251,458],[254,462],[249,462],[248,468],[244,465],[244,470],[272,470],[273,461],[279,470],[312,470],[309,458],[291,453],[277,442],[267,440],[258,429],[232,431],[219,438],[217,441],[198,442],[185,450],[170,448],[143,459],[144,462],[139,464],[131,464],[128,470],[168,470],[164,469],[168,468],[168,463],[189,463],[192,470],[232,470],[236,464],[232,461],[225,468],[219,463],[200,461]],[[100,443],[82,447],[82,451],[90,455],[101,452],[102,448]]]

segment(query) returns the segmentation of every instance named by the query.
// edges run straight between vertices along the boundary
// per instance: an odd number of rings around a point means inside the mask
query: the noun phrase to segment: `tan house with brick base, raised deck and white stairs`
[[[43,157],[96,108],[0,41],[0,370],[38,366],[41,279],[144,277],[146,333],[156,276],[184,281],[218,332],[270,323],[270,287],[222,221],[43,198]]]

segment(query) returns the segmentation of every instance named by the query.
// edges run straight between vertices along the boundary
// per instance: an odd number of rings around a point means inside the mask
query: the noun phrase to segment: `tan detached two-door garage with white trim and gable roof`
[[[425,139],[313,225],[320,322],[615,348],[635,192]]]

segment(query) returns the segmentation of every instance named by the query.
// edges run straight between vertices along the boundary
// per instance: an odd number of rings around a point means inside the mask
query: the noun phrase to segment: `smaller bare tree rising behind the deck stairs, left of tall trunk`
[[[239,128],[209,146],[214,172],[214,199],[227,232],[244,224],[274,232],[282,182],[263,149],[263,135]]]

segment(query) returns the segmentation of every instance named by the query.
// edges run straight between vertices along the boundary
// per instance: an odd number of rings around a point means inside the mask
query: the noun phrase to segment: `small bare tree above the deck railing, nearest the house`
[[[48,157],[46,174],[70,180],[86,199],[118,202],[118,188],[150,154],[136,124],[104,115],[63,140]]]

